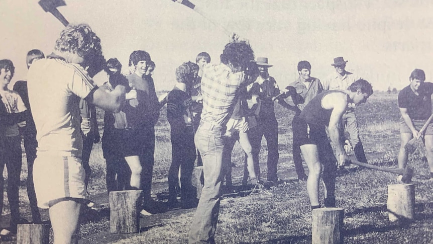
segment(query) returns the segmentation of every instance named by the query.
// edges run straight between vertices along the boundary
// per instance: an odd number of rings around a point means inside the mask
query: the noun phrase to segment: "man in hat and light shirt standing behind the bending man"
[[[346,63],[343,57],[334,58],[334,63],[331,64],[335,68],[335,72],[333,72],[326,80],[323,81],[323,89],[324,91],[328,90],[348,90],[349,86],[352,85],[356,80],[361,77],[347,71]],[[360,162],[366,162],[367,158],[365,157],[364,147],[362,146],[361,139],[359,138],[358,131],[358,122],[356,120],[355,114],[355,104],[350,103],[348,105],[348,109],[345,114],[343,114],[343,118],[341,120],[343,126],[341,126],[342,132],[344,132],[344,128],[347,128],[349,132],[349,142],[355,151],[356,159]],[[342,136],[344,133],[340,133]],[[344,141],[344,140],[343,140]]]

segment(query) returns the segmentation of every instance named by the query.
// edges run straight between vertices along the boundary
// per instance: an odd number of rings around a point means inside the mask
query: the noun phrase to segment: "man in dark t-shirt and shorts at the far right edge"
[[[433,123],[431,123],[433,83],[424,83],[424,80],[424,71],[416,68],[409,76],[409,86],[398,93],[398,108],[401,113],[398,168],[406,168],[407,154],[414,151],[413,143],[422,138],[430,179],[433,179]],[[400,180],[400,177],[397,179]]]

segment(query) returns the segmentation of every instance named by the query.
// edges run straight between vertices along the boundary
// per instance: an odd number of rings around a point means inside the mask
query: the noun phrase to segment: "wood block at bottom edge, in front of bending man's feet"
[[[317,208],[312,210],[312,244],[343,243],[342,208]]]

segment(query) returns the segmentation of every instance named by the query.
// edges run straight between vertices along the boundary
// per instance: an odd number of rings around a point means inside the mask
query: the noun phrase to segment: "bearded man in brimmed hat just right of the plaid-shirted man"
[[[278,162],[278,123],[274,112],[274,102],[272,98],[280,93],[274,77],[268,73],[268,68],[272,67],[268,63],[268,58],[258,57],[257,66],[260,76],[248,88],[252,94],[258,94],[258,106],[255,111],[257,116],[257,126],[250,128],[249,138],[253,147],[253,158],[259,161],[260,143],[265,136],[268,145],[268,174],[267,180],[275,184],[278,183],[277,162]],[[260,175],[257,175],[260,178]]]

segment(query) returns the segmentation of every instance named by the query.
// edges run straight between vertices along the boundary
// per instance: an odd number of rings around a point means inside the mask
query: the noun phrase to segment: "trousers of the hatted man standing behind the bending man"
[[[353,146],[353,150],[355,152],[356,159],[360,162],[367,162],[367,158],[365,156],[364,147],[362,146],[361,139],[359,138],[359,130],[358,130],[358,121],[356,119],[356,114],[354,110],[347,110],[345,114],[343,114],[342,118],[341,135],[344,136],[344,128],[346,127],[349,132],[349,142]],[[344,140],[343,140],[344,141]]]

